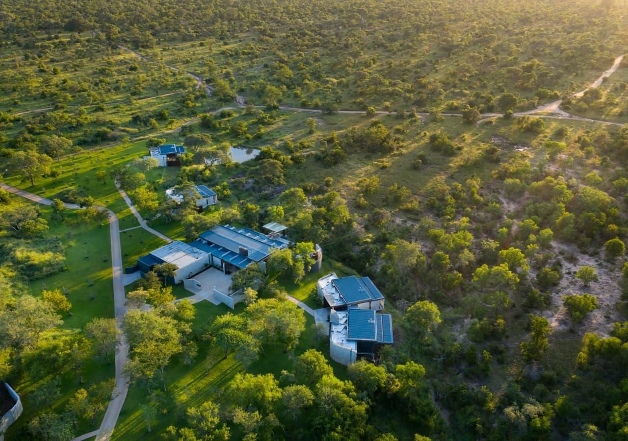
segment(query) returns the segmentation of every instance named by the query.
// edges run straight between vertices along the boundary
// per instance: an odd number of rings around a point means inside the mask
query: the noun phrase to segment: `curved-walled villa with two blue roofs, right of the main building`
[[[342,364],[373,360],[380,344],[393,344],[393,318],[378,314],[384,295],[369,277],[328,274],[317,283],[323,306],[330,308],[329,353]]]

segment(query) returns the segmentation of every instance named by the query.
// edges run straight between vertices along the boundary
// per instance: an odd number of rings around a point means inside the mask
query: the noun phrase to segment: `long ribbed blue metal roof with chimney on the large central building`
[[[251,228],[236,228],[230,225],[215,226],[198,236],[210,244],[225,248],[237,255],[240,255],[240,247],[244,247],[249,252],[248,257],[254,262],[268,257],[271,248],[286,248],[287,246],[286,243],[273,240]]]

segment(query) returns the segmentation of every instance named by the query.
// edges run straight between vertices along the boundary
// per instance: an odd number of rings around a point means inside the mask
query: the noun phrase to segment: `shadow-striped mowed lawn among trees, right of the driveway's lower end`
[[[124,407],[120,413],[113,439],[161,439],[160,433],[170,425],[183,427],[185,425],[185,411],[192,406],[201,405],[207,400],[219,400],[220,393],[229,381],[237,374],[244,372],[244,366],[233,359],[232,355],[223,358],[222,351],[210,348],[200,337],[205,333],[207,325],[214,317],[229,312],[229,308],[220,305],[214,306],[206,300],[195,304],[196,317],[193,322],[193,334],[198,337],[198,355],[188,366],[180,359],[174,358],[166,371],[165,402],[160,406],[158,418],[151,420],[151,433],[147,432],[146,419],[141,405],[146,402],[146,387],[133,385],[129,390]],[[236,313],[242,312],[244,307],[238,305]],[[328,356],[328,344],[317,345],[315,326],[312,317],[306,315],[306,331],[301,334],[294,355],[316,348]],[[346,378],[345,368],[340,364],[330,362],[335,375]],[[282,346],[264,345],[264,353],[259,361],[249,368],[250,373],[272,373],[277,378],[283,369],[291,371],[293,360],[291,354],[284,353]],[[278,415],[281,417],[281,415]]]

